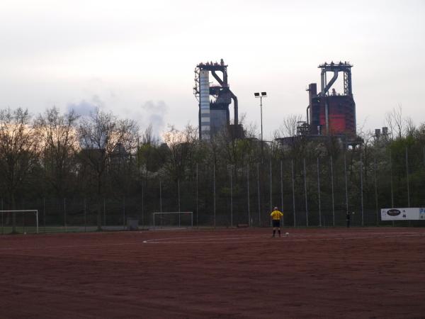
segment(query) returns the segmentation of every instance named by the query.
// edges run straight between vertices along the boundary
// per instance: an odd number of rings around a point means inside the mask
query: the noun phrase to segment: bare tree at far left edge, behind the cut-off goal
[[[28,110],[0,111],[0,177],[12,209],[16,196],[33,169],[38,165],[39,136],[31,123]],[[13,233],[16,216],[13,214]]]

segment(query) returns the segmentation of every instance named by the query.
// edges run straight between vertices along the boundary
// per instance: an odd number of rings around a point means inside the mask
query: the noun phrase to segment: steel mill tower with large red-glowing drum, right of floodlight
[[[308,86],[309,105],[307,106],[307,125],[310,135],[343,135],[348,139],[356,136],[356,103],[351,87],[351,67],[348,62],[319,65],[321,88],[317,94],[317,84]],[[332,73],[328,82],[327,74]],[[331,89],[340,73],[344,74],[344,92]],[[299,133],[307,133],[305,125],[299,125]]]

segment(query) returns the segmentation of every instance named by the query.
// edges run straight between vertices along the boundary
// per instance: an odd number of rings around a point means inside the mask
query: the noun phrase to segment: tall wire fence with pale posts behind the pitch
[[[40,232],[125,230],[129,219],[152,226],[154,212],[193,212],[193,225],[254,227],[270,225],[277,206],[286,227],[421,225],[384,222],[381,208],[425,206],[425,153],[342,152],[336,157],[263,159],[237,165],[196,164],[182,179],[158,175],[136,196],[122,198],[38,198],[16,203],[38,210]],[[1,210],[10,209],[1,200]],[[18,231],[33,231],[30,214],[15,213]],[[1,213],[8,233],[13,213]]]

